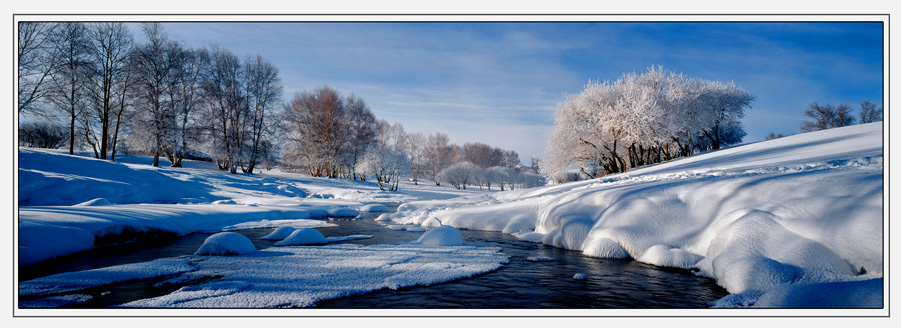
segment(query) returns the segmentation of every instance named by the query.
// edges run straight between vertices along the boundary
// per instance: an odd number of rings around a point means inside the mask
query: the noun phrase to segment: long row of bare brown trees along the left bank
[[[231,173],[279,165],[374,179],[387,190],[406,177],[460,186],[442,172],[464,162],[526,170],[512,150],[408,134],[376,118],[362,97],[329,86],[286,101],[278,68],[262,56],[191,48],[159,23],[140,28],[142,43],[123,23],[19,23],[18,110],[41,121],[20,125],[20,144],[89,149],[108,160],[146,154],[154,166],[160,157],[174,167],[207,159]]]

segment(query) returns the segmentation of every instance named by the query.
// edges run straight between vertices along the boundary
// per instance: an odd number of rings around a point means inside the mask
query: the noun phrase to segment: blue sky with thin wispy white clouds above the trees
[[[565,94],[652,65],[757,99],[745,142],[798,133],[807,105],[883,99],[881,23],[167,23],[189,46],[260,54],[285,98],[328,84],[407,132],[540,155]],[[140,39],[140,37],[139,37]],[[856,112],[855,112],[856,114]]]

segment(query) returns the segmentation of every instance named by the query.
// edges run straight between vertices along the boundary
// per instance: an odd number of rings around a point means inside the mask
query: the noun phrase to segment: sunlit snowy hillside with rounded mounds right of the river
[[[716,279],[716,307],[883,307],[882,123],[599,179],[404,204],[383,219],[502,231]]]

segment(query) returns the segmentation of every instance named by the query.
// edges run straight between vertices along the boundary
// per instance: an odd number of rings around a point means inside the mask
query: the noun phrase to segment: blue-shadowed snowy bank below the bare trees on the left
[[[279,171],[228,174],[197,161],[170,168],[161,160],[161,167],[152,167],[152,159],[142,156],[117,155],[117,162],[110,162],[29,148],[19,149],[18,155],[20,266],[90,250],[95,238],[125,231],[185,235],[281,225],[323,227],[331,224],[308,219],[356,217],[360,212],[354,208],[364,203],[475,193],[425,184],[385,192],[371,182]],[[304,196],[308,194],[329,197]]]

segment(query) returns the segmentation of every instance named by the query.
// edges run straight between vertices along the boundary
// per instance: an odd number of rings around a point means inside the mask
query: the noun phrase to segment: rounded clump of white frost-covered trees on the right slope
[[[662,67],[613,82],[589,81],[558,104],[541,168],[561,183],[737,144],[753,100],[732,82]]]

